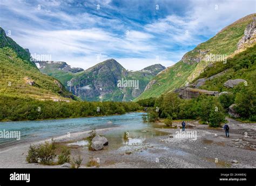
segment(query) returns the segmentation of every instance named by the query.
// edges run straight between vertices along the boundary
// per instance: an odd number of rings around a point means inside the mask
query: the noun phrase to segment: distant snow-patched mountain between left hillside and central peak
[[[36,61],[35,64],[42,73],[58,79],[66,88],[75,73],[84,71],[83,68],[71,67],[64,61]]]

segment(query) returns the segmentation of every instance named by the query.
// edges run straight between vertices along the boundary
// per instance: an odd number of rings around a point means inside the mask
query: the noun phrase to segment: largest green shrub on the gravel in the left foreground
[[[37,146],[30,146],[26,161],[29,163],[52,164],[55,159],[55,146],[54,143],[39,144]]]

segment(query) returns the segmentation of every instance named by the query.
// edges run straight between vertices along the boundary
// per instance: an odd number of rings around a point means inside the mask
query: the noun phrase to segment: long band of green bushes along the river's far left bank
[[[0,96],[0,121],[78,118],[142,110],[135,102],[41,101]]]

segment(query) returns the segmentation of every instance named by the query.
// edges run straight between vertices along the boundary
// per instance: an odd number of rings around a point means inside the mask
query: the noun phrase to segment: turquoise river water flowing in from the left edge
[[[127,113],[124,115],[100,116],[92,118],[75,118],[42,121],[9,121],[0,122],[0,132],[18,131],[21,139],[0,138],[0,147],[24,141],[46,139],[49,137],[65,135],[67,133],[81,132],[93,128],[119,127],[119,132],[139,130],[147,127],[143,123],[142,115],[145,113]],[[114,131],[113,131],[114,132]]]

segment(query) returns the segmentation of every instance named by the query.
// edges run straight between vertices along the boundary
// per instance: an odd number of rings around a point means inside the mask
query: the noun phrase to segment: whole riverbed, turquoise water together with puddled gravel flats
[[[1,141],[0,168],[63,168],[27,163],[30,144],[53,138],[71,148],[71,156],[83,158],[81,168],[91,158],[99,168],[255,168],[255,123],[228,119],[230,137],[221,128],[209,128],[198,121],[188,121],[185,131],[192,137],[177,137],[180,123],[165,127],[163,123],[144,123],[144,113],[46,121],[2,122],[5,130],[21,130],[21,140]],[[3,125],[2,125],[3,124]],[[90,130],[109,140],[103,150],[91,151],[85,138]],[[124,139],[129,132],[129,140]],[[247,136],[245,136],[245,133]]]

